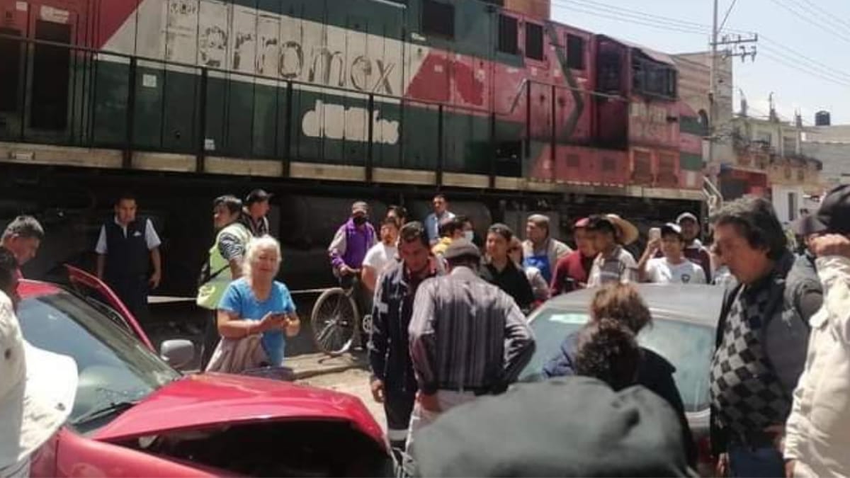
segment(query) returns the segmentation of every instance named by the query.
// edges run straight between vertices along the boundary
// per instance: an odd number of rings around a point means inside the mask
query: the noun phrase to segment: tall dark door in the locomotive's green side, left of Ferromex
[[[37,20],[36,37],[55,43],[71,43],[71,26]],[[68,124],[68,83],[71,50],[38,44],[32,55],[32,101],[30,126],[65,129]]]

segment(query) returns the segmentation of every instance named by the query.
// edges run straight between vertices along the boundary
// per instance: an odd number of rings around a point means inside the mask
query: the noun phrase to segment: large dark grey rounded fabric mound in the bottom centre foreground
[[[587,377],[519,384],[454,407],[416,435],[411,452],[418,476],[695,476],[664,399]]]

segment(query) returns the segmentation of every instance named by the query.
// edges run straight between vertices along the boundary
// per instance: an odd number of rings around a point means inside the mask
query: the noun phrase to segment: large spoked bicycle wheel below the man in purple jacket
[[[354,327],[360,322],[357,304],[345,290],[334,287],[316,300],[310,325],[316,348],[329,356],[344,354],[354,341]]]

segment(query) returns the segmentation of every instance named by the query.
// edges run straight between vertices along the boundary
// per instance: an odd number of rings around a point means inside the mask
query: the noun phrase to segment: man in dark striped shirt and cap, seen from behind
[[[408,329],[419,393],[411,435],[451,407],[507,390],[531,360],[535,339],[519,306],[479,277],[479,249],[466,239],[445,252],[448,276],[422,282]]]

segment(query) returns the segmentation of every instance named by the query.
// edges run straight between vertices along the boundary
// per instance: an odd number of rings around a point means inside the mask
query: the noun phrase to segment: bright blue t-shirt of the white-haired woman
[[[282,282],[275,281],[271,287],[269,298],[263,301],[257,299],[248,282],[236,279],[230,282],[227,290],[218,304],[218,309],[227,310],[240,316],[243,320],[261,321],[269,312],[275,314],[294,314],[295,303],[289,289]],[[269,330],[263,332],[263,350],[269,357],[269,364],[273,367],[283,365],[284,350],[286,349],[286,338],[282,330]]]

